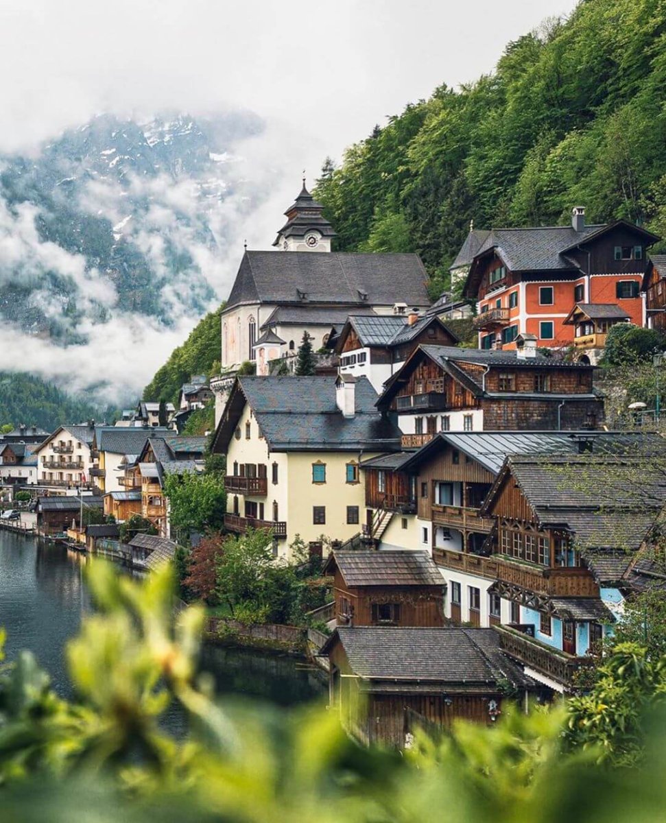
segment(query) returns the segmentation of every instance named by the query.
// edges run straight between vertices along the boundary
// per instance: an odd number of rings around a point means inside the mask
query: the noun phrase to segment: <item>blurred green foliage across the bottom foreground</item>
[[[357,746],[320,705],[286,713],[218,704],[197,667],[203,611],[175,613],[167,566],[138,584],[95,561],[89,582],[97,611],[68,644],[76,699],[58,698],[30,653],[0,671],[3,820],[664,819],[666,723],[659,713],[641,715],[657,702],[648,695],[663,693],[660,664],[647,666],[634,647],[608,663],[599,681],[605,692],[529,716],[506,711],[491,728],[457,723],[439,740],[420,734],[401,755]],[[643,718],[637,726],[612,705],[625,711],[631,700]],[[180,739],[161,725],[171,704],[189,718]],[[608,745],[605,732],[595,733],[598,714],[602,728],[616,727]],[[608,756],[629,737],[643,751],[640,769],[617,768]]]

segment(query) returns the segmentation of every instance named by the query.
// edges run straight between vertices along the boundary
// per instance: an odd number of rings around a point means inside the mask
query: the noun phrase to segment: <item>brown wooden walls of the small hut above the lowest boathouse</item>
[[[339,625],[380,625],[372,619],[374,603],[398,603],[400,620],[395,625],[438,628],[444,625],[444,578],[442,586],[347,586],[339,569],[333,575],[335,615]],[[352,605],[350,621],[343,617],[342,602]]]

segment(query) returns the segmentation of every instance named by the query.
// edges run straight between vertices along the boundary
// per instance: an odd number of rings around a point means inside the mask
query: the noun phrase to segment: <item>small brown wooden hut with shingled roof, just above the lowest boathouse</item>
[[[445,582],[426,551],[333,551],[338,625],[444,625]]]

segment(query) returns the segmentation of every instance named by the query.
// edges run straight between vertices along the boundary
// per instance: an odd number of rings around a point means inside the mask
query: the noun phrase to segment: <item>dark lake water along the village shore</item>
[[[6,659],[30,649],[65,697],[72,690],[64,647],[92,609],[83,574],[88,562],[86,555],[65,546],[0,531],[0,625],[7,630]],[[282,706],[324,695],[319,672],[285,655],[207,646],[202,668],[212,673],[219,695],[258,697]],[[178,713],[170,712],[168,725],[180,728]]]

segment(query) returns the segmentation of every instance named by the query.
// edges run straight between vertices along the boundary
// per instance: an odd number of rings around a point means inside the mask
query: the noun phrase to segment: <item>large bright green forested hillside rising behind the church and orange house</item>
[[[583,0],[324,165],[338,249],[416,251],[445,286],[468,232],[552,225],[584,205],[666,236],[666,5]]]

